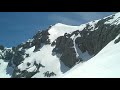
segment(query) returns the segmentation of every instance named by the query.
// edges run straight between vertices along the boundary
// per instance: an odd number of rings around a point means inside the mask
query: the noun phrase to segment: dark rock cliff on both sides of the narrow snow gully
[[[120,34],[120,24],[104,24],[109,19],[112,19],[113,16],[98,21],[94,29],[91,25],[87,24],[82,31],[76,30],[71,34],[65,33],[64,36],[58,37],[51,44],[51,46],[55,46],[53,54],[59,56],[60,60],[70,68],[74,66],[76,62],[80,62],[81,59],[76,57],[73,39],[71,39],[73,35],[80,35],[75,40],[75,44],[78,45],[78,48],[82,53],[87,51],[89,55],[96,55],[111,40],[115,39],[116,36]],[[118,38],[115,43],[119,41],[120,38]]]

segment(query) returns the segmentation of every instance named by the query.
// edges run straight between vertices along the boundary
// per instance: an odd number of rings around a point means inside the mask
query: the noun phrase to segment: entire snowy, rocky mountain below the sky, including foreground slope
[[[80,26],[57,23],[12,48],[0,46],[1,78],[120,77],[120,13]]]

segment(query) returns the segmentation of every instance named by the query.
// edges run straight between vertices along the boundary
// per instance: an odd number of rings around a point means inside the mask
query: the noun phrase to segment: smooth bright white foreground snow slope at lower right
[[[60,77],[120,78],[120,42],[115,44],[115,40],[111,41],[89,61],[76,65]]]

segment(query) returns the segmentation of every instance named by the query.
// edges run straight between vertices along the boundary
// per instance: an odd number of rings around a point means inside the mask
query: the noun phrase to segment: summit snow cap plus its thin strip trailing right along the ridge
[[[100,20],[100,19],[99,19]],[[71,25],[65,25],[62,23],[57,23],[54,26],[49,29],[49,39],[51,42],[53,42],[55,39],[57,39],[59,36],[63,36],[65,33],[72,33],[76,30],[82,31],[87,24],[90,25],[89,28],[92,28],[91,31],[95,30],[95,25],[99,20],[94,20],[85,24],[81,24],[80,26],[71,26]],[[74,38],[74,36],[72,36]]]

